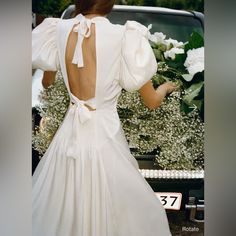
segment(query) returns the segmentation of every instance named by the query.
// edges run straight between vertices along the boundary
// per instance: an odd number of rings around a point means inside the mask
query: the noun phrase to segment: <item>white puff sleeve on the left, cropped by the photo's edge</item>
[[[32,68],[44,71],[59,69],[56,43],[57,25],[60,18],[46,18],[32,31]]]

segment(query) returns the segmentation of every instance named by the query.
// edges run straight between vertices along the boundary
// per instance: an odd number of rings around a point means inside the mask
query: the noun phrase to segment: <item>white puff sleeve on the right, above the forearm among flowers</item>
[[[121,49],[121,87],[130,92],[139,90],[156,71],[148,29],[136,21],[127,21]]]

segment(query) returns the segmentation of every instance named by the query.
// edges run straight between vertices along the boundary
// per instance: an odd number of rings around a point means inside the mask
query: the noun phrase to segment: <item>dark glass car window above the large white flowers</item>
[[[186,42],[193,31],[203,35],[200,20],[193,16],[171,15],[152,12],[113,11],[108,15],[112,23],[124,24],[127,20],[136,20],[145,26],[152,24],[152,33],[162,32],[167,38]]]

